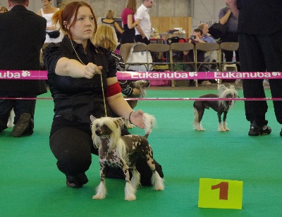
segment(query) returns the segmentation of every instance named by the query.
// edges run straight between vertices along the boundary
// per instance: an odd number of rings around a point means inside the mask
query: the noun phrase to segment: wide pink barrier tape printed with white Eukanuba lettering
[[[117,72],[118,80],[282,79],[282,72]],[[0,70],[0,79],[47,80],[46,70]]]

